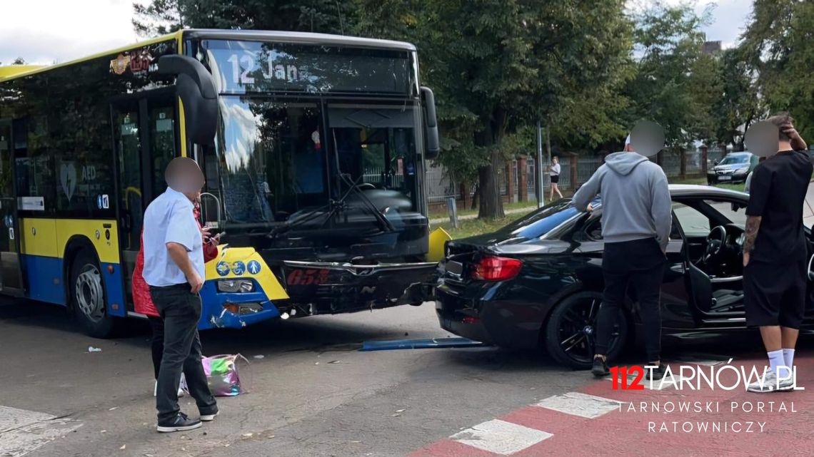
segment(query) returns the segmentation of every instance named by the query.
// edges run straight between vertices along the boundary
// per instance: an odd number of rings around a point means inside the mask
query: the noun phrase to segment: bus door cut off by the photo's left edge
[[[24,287],[20,271],[13,149],[11,122],[0,120],[0,292],[21,296]]]

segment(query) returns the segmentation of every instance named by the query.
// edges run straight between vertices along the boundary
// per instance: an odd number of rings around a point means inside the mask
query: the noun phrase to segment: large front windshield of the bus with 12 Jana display
[[[220,93],[204,162],[223,220],[285,222],[329,207],[351,186],[383,198],[374,202],[380,211],[417,211],[413,53],[202,40],[197,54]]]

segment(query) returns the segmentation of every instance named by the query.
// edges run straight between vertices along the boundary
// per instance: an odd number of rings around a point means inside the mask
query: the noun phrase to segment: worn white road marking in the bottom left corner
[[[44,412],[0,406],[0,455],[21,457],[81,425]]]

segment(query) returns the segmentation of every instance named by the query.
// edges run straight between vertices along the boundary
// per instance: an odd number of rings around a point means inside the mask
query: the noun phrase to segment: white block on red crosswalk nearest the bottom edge
[[[551,433],[495,419],[455,433],[450,438],[495,454],[510,455],[553,436]]]

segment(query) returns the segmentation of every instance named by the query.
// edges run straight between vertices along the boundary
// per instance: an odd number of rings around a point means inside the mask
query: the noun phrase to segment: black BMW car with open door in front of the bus
[[[663,334],[743,329],[749,195],[700,185],[671,185],[670,194]],[[495,233],[448,242],[435,289],[441,327],[498,346],[542,346],[560,363],[589,368],[603,287],[602,204],[592,206],[581,212],[563,199]],[[635,297],[617,321],[610,357],[636,333]],[[811,299],[805,324],[814,326]]]

